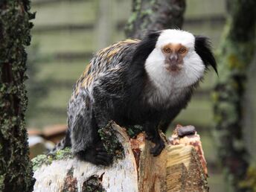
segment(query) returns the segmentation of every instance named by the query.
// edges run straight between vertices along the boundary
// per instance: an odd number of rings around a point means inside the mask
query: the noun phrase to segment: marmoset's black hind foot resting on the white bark
[[[92,164],[109,166],[112,164],[112,156],[106,152],[105,147],[100,142],[94,148],[83,150],[77,153],[77,157]]]

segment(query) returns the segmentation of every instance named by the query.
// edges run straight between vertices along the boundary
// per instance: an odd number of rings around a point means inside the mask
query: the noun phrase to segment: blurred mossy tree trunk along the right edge
[[[255,0],[228,1],[228,22],[217,57],[219,78],[214,92],[215,134],[220,160],[234,191],[245,179],[249,157],[243,138],[246,71],[255,54]]]

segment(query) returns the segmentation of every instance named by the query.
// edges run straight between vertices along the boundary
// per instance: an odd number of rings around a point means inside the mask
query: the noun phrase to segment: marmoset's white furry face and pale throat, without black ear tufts
[[[169,100],[168,103],[172,104],[182,97],[186,88],[202,78],[205,65],[196,54],[194,45],[195,36],[187,31],[161,32],[156,48],[145,63],[148,77],[155,87],[154,92],[147,92],[149,103],[166,103]],[[170,69],[170,66],[175,69]]]

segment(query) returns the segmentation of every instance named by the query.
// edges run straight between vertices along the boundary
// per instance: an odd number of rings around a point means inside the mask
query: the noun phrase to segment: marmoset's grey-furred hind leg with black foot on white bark
[[[106,152],[105,147],[97,132],[98,127],[92,109],[92,103],[83,105],[77,112],[71,128],[72,151],[78,159],[89,161],[93,164],[109,165],[112,156]]]

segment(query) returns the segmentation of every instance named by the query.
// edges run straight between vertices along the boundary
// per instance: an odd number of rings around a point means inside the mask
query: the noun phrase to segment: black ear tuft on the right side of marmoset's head
[[[205,66],[211,65],[214,68],[214,71],[218,74],[217,63],[214,58],[214,54],[211,51],[211,42],[205,36],[195,36],[195,50],[196,53],[201,57],[202,62],[205,63]]]

